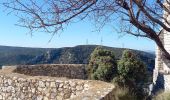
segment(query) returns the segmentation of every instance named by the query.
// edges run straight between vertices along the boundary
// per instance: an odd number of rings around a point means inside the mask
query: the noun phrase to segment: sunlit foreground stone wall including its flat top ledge
[[[114,85],[0,71],[0,100],[113,100]]]

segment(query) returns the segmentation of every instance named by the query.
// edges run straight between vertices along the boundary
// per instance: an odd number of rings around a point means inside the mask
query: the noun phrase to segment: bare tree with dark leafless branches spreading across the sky
[[[57,33],[74,20],[86,17],[104,26],[107,22],[123,24],[121,32],[153,40],[163,57],[170,60],[159,37],[170,32],[163,11],[170,14],[169,0],[4,0],[3,5],[19,17],[20,26],[31,31]],[[115,27],[113,25],[113,27]]]

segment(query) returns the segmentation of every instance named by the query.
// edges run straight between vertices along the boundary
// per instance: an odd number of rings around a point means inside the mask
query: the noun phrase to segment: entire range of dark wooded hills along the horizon
[[[87,64],[91,52],[97,45],[80,45],[64,48],[25,48],[0,46],[0,65],[17,64]],[[124,48],[105,47],[113,50],[117,60],[120,59]],[[154,67],[155,55],[152,53],[132,50],[143,60],[149,70]]]

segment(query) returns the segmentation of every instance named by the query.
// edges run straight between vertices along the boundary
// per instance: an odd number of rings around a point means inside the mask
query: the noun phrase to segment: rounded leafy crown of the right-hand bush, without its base
[[[118,83],[123,86],[134,87],[146,81],[147,69],[139,58],[130,50],[123,52],[118,62]]]

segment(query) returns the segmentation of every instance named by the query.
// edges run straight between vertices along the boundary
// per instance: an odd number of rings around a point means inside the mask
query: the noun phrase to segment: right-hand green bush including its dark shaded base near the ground
[[[130,50],[125,50],[117,66],[117,77],[113,79],[120,87],[129,88],[138,100],[147,96],[143,87],[147,82],[147,69],[141,60]]]

